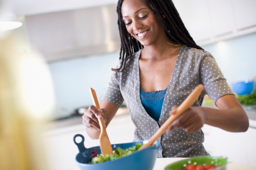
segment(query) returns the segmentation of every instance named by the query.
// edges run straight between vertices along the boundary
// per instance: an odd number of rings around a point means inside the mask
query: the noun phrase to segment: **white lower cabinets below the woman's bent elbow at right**
[[[256,121],[250,120],[250,125]],[[251,126],[244,133],[232,133],[209,125],[202,128],[204,147],[211,156],[225,156],[230,162],[256,166],[256,128]]]

